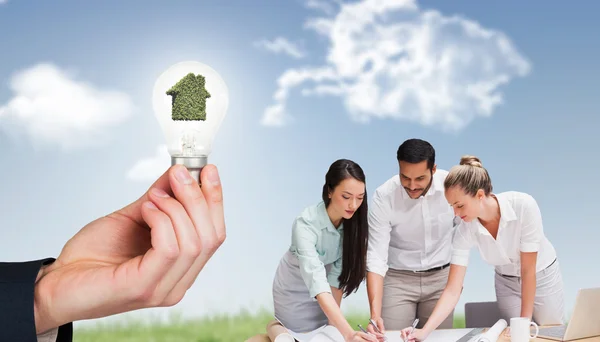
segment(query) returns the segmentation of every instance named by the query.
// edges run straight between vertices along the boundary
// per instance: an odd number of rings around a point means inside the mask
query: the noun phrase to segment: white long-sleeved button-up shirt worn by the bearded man
[[[399,175],[375,190],[369,205],[367,271],[424,271],[446,265],[452,255],[454,210],[444,196],[448,171],[438,169],[424,196],[412,199]]]

